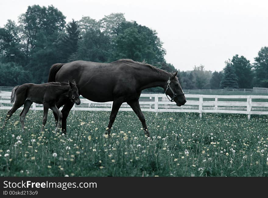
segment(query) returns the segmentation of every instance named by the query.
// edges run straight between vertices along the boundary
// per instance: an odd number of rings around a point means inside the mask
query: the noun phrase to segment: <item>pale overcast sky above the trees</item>
[[[253,63],[260,48],[268,46],[266,0],[1,0],[0,27],[8,19],[17,22],[34,4],[54,5],[67,23],[82,16],[98,20],[112,12],[125,13],[126,20],[157,31],[165,59],[181,71],[200,64],[220,71],[235,54]]]

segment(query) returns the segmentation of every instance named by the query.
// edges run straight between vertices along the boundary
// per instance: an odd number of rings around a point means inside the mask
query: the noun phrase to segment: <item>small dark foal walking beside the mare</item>
[[[12,89],[10,102],[14,105],[12,109],[10,109],[5,118],[2,129],[5,128],[5,124],[12,116],[12,114],[19,109],[23,104],[23,110],[19,115],[21,129],[24,131],[24,119],[26,113],[29,111],[30,106],[33,102],[38,104],[43,104],[44,106],[44,115],[42,121],[41,132],[44,131],[44,126],[47,122],[48,117],[48,109],[51,109],[55,115],[58,117],[58,122],[56,125],[55,131],[57,131],[61,126],[62,113],[56,106],[56,102],[59,98],[64,97],[65,99],[69,99],[71,102],[75,102],[77,105],[80,104],[78,89],[76,87],[76,82],[73,80],[72,82],[49,82],[43,83],[40,85],[26,83],[20,86],[16,86]]]

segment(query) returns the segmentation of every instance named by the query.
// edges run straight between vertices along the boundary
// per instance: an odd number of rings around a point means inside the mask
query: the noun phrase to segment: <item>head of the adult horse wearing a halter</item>
[[[165,84],[165,93],[171,102],[176,102],[177,106],[182,106],[186,103],[186,98],[184,96],[184,92],[182,91],[182,87],[177,77],[178,71],[171,74],[169,79]]]

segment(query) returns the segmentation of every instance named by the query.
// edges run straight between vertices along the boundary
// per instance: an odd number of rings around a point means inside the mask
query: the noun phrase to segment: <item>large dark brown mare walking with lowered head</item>
[[[74,61],[51,66],[48,82],[66,82],[75,79],[79,94],[95,102],[113,101],[107,132],[110,134],[115,117],[123,102],[127,102],[139,117],[145,134],[149,136],[145,118],[139,106],[141,91],[150,87],[162,87],[177,106],[186,102],[182,87],[173,74],[150,64],[120,59],[111,63]],[[56,106],[62,109],[62,132],[66,132],[66,119],[74,102],[61,98]],[[55,119],[57,121],[57,115]]]

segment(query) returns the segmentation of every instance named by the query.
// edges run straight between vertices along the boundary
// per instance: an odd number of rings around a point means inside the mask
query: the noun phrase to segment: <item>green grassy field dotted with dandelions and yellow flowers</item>
[[[0,123],[6,111],[0,111]],[[151,139],[133,112],[119,112],[111,137],[109,112],[75,112],[69,133],[55,133],[49,112],[19,111],[0,132],[0,176],[268,176],[268,116],[144,113]]]

